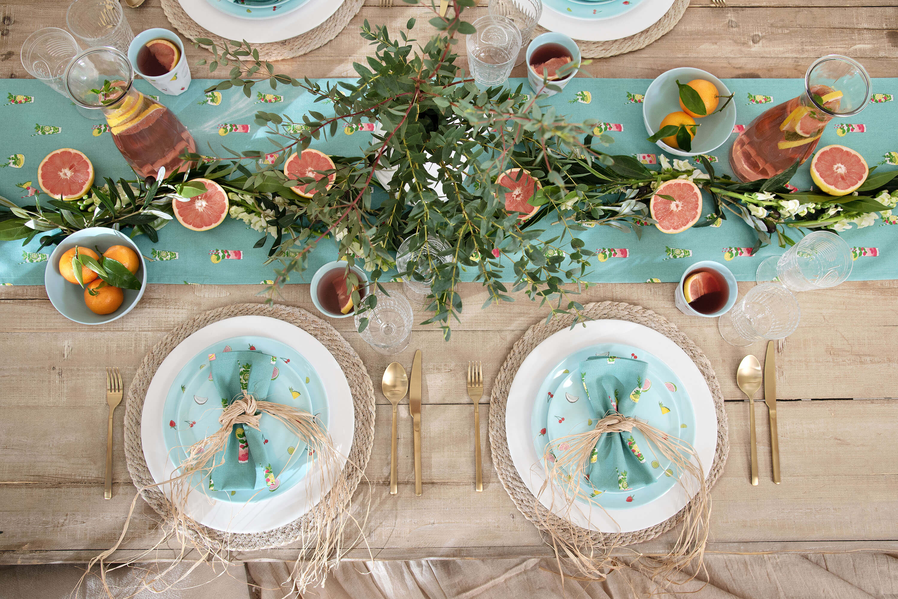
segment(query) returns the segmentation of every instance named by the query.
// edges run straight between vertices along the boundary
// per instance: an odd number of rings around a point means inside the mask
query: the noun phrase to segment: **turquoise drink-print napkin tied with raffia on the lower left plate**
[[[233,404],[243,396],[243,391],[249,391],[258,402],[268,396],[275,357],[262,352],[222,352],[209,356],[209,366],[212,382],[223,402]],[[212,476],[215,488],[252,490],[267,487],[269,473],[257,474],[269,463],[262,432],[245,424],[234,424],[225,447],[225,462],[216,466]]]

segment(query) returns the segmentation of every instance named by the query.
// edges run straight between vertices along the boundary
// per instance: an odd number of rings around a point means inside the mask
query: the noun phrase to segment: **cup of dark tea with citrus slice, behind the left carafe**
[[[167,29],[138,33],[128,46],[128,60],[154,88],[169,96],[180,96],[190,86],[190,66],[184,44]]]

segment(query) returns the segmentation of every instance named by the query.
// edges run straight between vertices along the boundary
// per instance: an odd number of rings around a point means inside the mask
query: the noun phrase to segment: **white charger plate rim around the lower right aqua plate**
[[[592,320],[585,326],[566,328],[533,348],[515,374],[506,404],[508,453],[527,489],[556,516],[582,528],[603,533],[629,533],[654,526],[674,516],[699,490],[698,482],[685,480],[664,495],[643,506],[629,509],[591,508],[568,499],[550,485],[540,493],[545,470],[533,447],[531,414],[538,390],[561,360],[596,343],[624,343],[655,354],[674,370],[682,381],[695,412],[695,451],[707,478],[718,442],[718,415],[708,383],[686,352],[665,335],[625,320]],[[684,488],[685,486],[685,488]]]

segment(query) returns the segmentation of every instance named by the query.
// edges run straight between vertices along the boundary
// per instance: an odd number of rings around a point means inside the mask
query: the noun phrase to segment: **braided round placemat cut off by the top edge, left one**
[[[162,0],[162,4],[163,12],[168,17],[169,22],[185,38],[208,38],[219,45],[227,41],[212,31],[206,30],[198,22],[191,19],[188,13],[185,13],[184,9],[181,8],[178,0]],[[339,32],[344,30],[349,22],[352,21],[352,18],[362,9],[363,4],[365,4],[365,0],[345,0],[336,13],[331,14],[327,21],[322,22],[321,25],[313,30],[300,33],[295,38],[273,41],[268,44],[252,44],[252,48],[259,50],[261,60],[281,60],[304,55],[315,48],[321,48],[331,39],[336,38]]]

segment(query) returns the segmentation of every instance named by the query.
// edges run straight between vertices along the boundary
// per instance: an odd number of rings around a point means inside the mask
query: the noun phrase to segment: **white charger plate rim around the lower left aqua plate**
[[[233,317],[219,320],[199,329],[179,343],[165,357],[146,390],[144,411],[140,421],[140,438],[146,465],[153,475],[154,482],[169,480],[177,467],[165,449],[163,408],[169,388],[180,369],[197,352],[212,343],[242,335],[274,339],[293,348],[309,360],[323,382],[330,412],[328,432],[341,456],[339,467],[329,473],[323,485],[321,461],[315,460],[313,468],[302,481],[296,482],[290,492],[251,504],[216,501],[207,498],[202,490],[194,490],[189,494],[187,514],[199,524],[229,533],[251,534],[271,530],[302,517],[330,490],[333,477],[342,471],[348,459],[349,449],[352,447],[356,411],[352,404],[349,383],[337,360],[311,334],[277,318]],[[169,493],[170,486],[162,485],[160,490]]]

